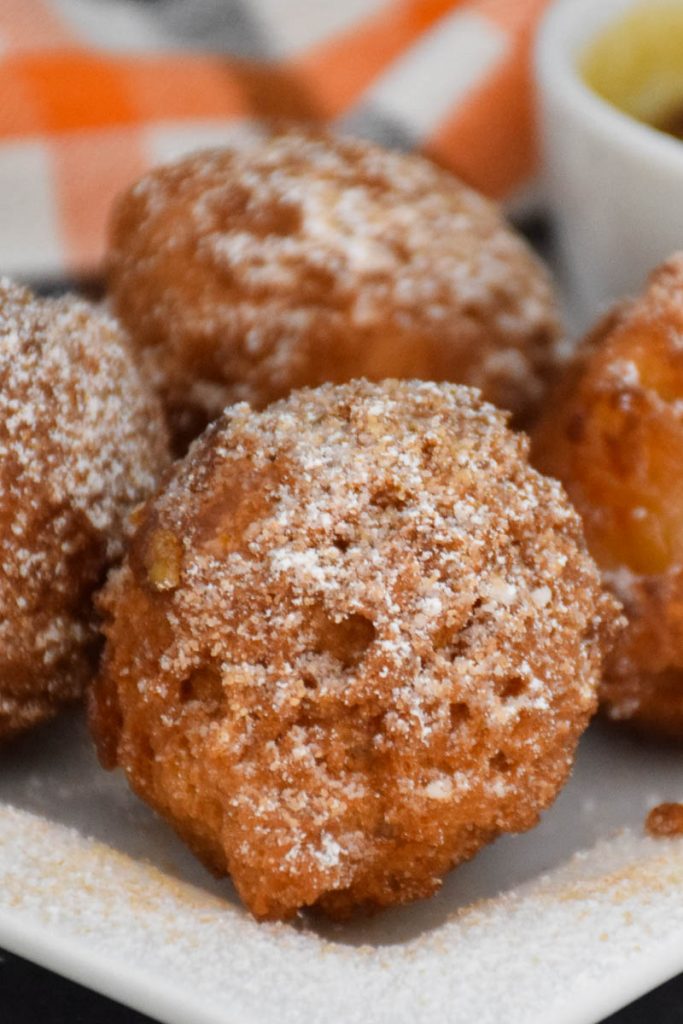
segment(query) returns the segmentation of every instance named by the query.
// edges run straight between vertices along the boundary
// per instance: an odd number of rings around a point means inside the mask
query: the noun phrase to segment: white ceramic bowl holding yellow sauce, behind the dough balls
[[[643,2],[559,0],[537,41],[545,181],[582,328],[683,249],[683,142],[606,102],[579,70],[591,40]]]

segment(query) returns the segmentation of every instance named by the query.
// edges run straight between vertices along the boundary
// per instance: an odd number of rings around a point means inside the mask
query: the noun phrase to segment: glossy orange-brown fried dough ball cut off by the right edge
[[[683,254],[581,347],[535,461],[564,483],[627,611],[607,714],[683,738]]]

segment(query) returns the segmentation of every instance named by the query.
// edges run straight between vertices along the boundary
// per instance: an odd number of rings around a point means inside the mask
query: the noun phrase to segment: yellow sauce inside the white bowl
[[[625,114],[683,138],[683,0],[631,8],[592,40],[581,72]]]

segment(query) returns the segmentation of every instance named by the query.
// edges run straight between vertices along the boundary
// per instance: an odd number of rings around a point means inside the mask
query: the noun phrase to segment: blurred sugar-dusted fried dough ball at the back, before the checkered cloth
[[[453,380],[528,416],[559,327],[498,209],[426,160],[291,130],[154,170],[109,282],[180,437],[228,403],[357,377]]]

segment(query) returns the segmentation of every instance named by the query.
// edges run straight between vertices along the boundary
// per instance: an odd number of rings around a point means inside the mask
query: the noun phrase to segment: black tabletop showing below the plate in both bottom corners
[[[156,1024],[150,1017],[2,950],[0,1021],[2,1024]],[[683,1024],[683,975],[607,1018],[604,1024]]]

